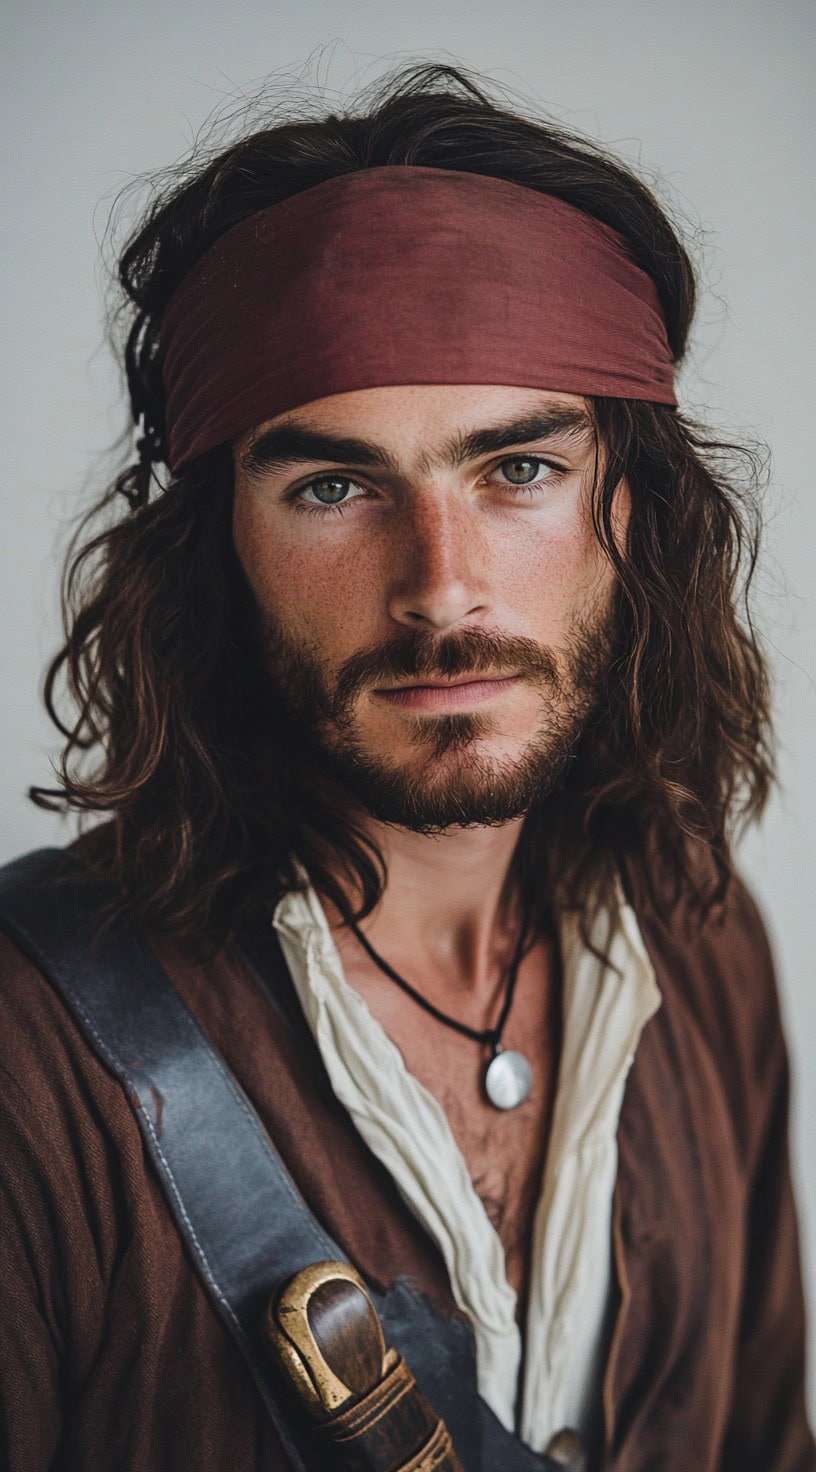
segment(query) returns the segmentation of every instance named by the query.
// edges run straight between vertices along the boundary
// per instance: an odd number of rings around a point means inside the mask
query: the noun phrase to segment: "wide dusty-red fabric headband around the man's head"
[[[386,165],[249,215],[161,328],[169,465],[287,409],[384,384],[473,383],[675,405],[651,278],[552,194]]]

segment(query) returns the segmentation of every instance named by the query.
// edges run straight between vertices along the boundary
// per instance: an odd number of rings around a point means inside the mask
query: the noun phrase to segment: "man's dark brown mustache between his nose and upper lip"
[[[458,676],[510,676],[544,680],[560,687],[558,667],[549,649],[533,639],[462,629],[442,639],[408,629],[376,649],[361,649],[342,665],[334,687],[334,715],[349,710],[365,689],[399,680],[448,680]]]

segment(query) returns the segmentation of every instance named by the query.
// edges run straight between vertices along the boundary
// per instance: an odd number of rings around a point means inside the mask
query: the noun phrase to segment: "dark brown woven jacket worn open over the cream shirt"
[[[722,926],[636,904],[663,1007],[619,1126],[610,1472],[816,1472],[773,967],[736,886]],[[225,954],[156,949],[308,1204],[377,1287],[445,1266],[334,1100],[286,988]],[[0,1463],[10,1472],[284,1472],[187,1262],[119,1085],[0,936]],[[501,1468],[495,1469],[501,1472]]]

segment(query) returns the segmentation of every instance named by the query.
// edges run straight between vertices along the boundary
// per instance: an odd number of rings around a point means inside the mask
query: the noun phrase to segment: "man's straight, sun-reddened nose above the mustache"
[[[489,606],[486,549],[467,506],[439,489],[420,492],[395,526],[389,614],[412,629],[452,629]]]

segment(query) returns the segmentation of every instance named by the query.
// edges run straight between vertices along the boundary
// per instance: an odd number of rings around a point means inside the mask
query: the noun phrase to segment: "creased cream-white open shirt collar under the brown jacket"
[[[272,924],[334,1094],[443,1256],[473,1325],[482,1397],[535,1451],[564,1426],[588,1435],[601,1412],[620,1105],[641,1032],[660,1007],[620,882],[589,932],[608,964],[583,944],[577,913],[560,921],[563,1044],[524,1354],[504,1248],[445,1111],[346,982],[315,891],[284,895]]]

